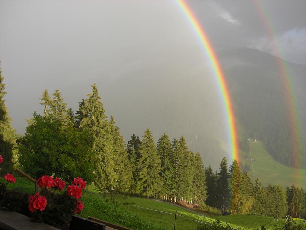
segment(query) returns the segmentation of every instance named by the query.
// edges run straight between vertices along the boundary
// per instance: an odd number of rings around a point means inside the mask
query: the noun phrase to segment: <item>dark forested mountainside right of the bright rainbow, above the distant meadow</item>
[[[306,85],[306,67],[283,62],[291,73],[289,81],[297,98],[298,110],[293,113],[300,116],[298,126],[301,129],[302,154],[294,162],[294,140],[286,102],[289,94],[283,87],[278,58],[248,48],[225,49],[219,52],[219,56],[222,57],[222,67],[238,121],[246,130],[247,137],[263,140],[272,157],[280,163],[305,167],[305,140],[302,134],[305,133],[306,121],[306,91],[303,89]]]

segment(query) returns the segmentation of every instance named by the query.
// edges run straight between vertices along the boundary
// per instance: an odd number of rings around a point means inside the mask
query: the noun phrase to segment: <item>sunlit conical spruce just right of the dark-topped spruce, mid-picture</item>
[[[159,178],[160,159],[152,132],[147,129],[140,144],[138,167],[138,191],[147,197],[157,197],[161,181]]]

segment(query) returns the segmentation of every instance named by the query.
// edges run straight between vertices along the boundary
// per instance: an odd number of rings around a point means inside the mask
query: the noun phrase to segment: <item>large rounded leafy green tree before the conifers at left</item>
[[[63,127],[56,117],[37,115],[18,142],[21,169],[33,178],[54,174],[66,181],[77,176],[87,182],[94,179],[95,154],[85,129]]]

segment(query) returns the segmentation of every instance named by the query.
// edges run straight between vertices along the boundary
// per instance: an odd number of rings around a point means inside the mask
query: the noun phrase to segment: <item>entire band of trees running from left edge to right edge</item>
[[[305,217],[302,188],[263,187],[258,179],[254,186],[239,163],[233,160],[228,167],[225,157],[219,172],[204,168],[199,152],[188,150],[183,136],[171,141],[164,133],[155,144],[146,129],[142,138],[133,134],[125,145],[114,117],[105,115],[95,84],[76,113],[67,109],[59,90],[53,97],[44,90],[43,115],[34,112],[25,135],[17,139],[3,100],[1,72],[0,86],[0,154],[8,162],[2,166],[6,171],[16,163],[34,178],[53,174],[71,180],[78,175],[110,199],[123,193],[214,207],[224,214]]]

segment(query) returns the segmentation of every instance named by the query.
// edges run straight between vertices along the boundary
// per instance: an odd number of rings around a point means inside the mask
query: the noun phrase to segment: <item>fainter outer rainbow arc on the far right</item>
[[[274,25],[272,23],[271,18],[269,17],[269,13],[267,11],[267,7],[264,5],[263,1],[253,1],[254,5],[256,6],[257,11],[259,12],[260,19],[262,20],[263,26],[268,33],[270,39],[273,40],[273,48],[274,54],[278,57],[283,57],[282,49],[280,45],[277,43],[276,31],[274,29]],[[300,130],[300,122],[299,122],[299,115],[297,109],[297,99],[294,93],[294,86],[291,80],[290,71],[286,65],[286,62],[279,58],[277,60],[278,65],[278,73],[282,80],[282,86],[284,89],[284,100],[286,111],[288,114],[289,124],[290,124],[290,136],[292,138],[292,159],[293,159],[293,166],[300,167],[301,165],[300,156],[303,150],[302,142],[301,142],[301,130]],[[303,162],[302,162],[303,164]]]

